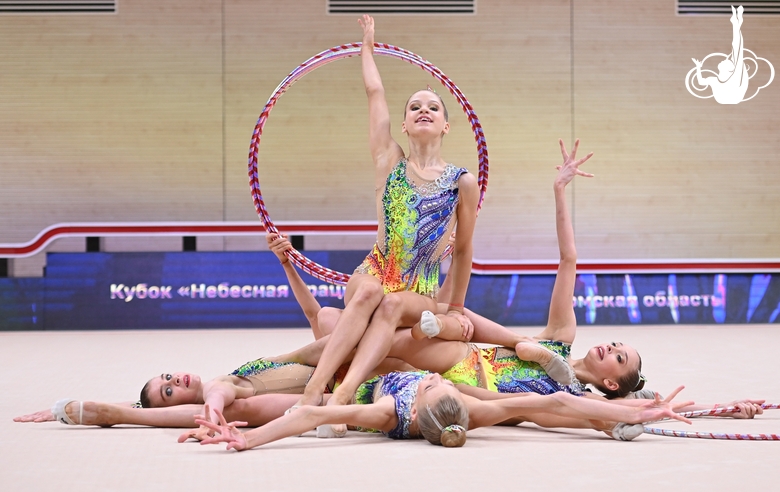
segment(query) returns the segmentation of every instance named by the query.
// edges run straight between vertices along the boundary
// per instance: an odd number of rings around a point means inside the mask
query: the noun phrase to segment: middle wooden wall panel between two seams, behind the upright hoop
[[[356,16],[323,15],[323,2],[299,2],[295,15],[256,2],[226,11],[227,214],[253,209],[245,161],[251,129],[284,75],[309,56],[359,41]],[[475,16],[377,16],[379,42],[412,50],[452,78],[485,127],[491,170],[475,245],[480,257],[529,256],[529,236],[551,227],[551,170],[557,139],[570,133],[568,2],[485,1]],[[378,58],[396,139],[408,96],[434,79],[410,65]],[[468,122],[445,96],[452,121],[443,156],[477,172]],[[234,118],[234,115],[236,116]],[[274,219],[372,219],[373,181],[367,110],[358,59],[332,63],[298,82],[271,113],[261,145],[260,178]],[[235,164],[235,170],[234,170]],[[505,237],[519,238],[507,248]],[[547,241],[549,243],[549,241]],[[554,242],[553,242],[554,244]],[[532,253],[533,252],[533,253]],[[554,253],[554,250],[553,250]]]

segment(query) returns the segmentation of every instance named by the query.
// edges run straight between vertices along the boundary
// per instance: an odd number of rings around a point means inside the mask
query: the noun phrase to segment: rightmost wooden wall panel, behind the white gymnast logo
[[[598,154],[576,188],[580,255],[780,256],[780,84],[738,105],[685,88],[691,58],[731,51],[728,17],[594,0],[573,18],[575,128]],[[780,17],[745,16],[742,34],[780,68]]]

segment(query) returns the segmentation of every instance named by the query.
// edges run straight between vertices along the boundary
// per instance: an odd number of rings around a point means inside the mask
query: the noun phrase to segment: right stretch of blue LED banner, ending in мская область
[[[547,323],[554,275],[473,276],[466,304],[506,326]],[[581,274],[578,325],[779,323],[778,274]]]

